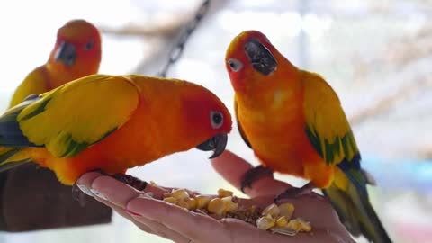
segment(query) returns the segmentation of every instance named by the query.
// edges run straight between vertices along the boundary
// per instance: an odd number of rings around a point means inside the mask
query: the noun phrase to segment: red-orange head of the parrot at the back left
[[[101,56],[101,34],[97,28],[85,20],[72,20],[58,29],[49,66],[60,74],[87,76],[97,73]]]

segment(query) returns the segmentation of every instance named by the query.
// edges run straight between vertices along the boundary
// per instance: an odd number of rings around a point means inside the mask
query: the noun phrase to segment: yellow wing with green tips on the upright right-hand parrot
[[[304,73],[305,131],[311,144],[328,165],[353,160],[359,151],[338,95],[319,75]]]

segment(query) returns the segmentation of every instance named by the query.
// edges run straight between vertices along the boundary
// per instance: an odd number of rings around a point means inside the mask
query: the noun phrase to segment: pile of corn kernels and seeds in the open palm
[[[294,205],[272,203],[264,210],[257,206],[244,208],[239,205],[238,197],[224,189],[218,190],[218,196],[190,195],[184,189],[175,189],[165,193],[163,200],[184,209],[211,215],[217,219],[234,218],[243,220],[258,229],[287,236],[295,236],[299,232],[310,232],[311,225],[301,218],[293,219]]]

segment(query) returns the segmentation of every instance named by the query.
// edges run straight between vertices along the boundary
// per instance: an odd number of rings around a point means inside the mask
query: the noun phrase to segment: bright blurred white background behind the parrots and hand
[[[101,73],[156,75],[201,4],[0,1],[0,110],[23,78],[45,63],[56,31],[68,20],[84,18],[103,32]],[[225,49],[240,31],[263,31],[293,64],[320,73],[338,93],[363,165],[378,184],[369,188],[374,208],[394,242],[432,242],[431,21],[430,0],[213,0],[167,76],[205,85],[232,112]],[[228,148],[257,165],[236,129]],[[208,156],[191,150],[130,174],[202,193],[233,189],[212,170]],[[0,233],[1,243],[122,241],[168,242],[116,214],[102,226]]]

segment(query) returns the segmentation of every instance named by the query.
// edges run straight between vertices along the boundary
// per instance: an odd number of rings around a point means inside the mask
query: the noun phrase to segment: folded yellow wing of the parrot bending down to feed
[[[27,99],[0,117],[0,146],[73,157],[129,120],[139,90],[127,77],[85,76]]]

